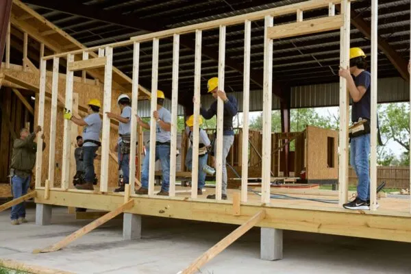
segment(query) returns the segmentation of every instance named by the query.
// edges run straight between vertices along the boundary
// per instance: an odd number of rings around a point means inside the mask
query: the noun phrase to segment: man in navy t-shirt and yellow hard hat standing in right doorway
[[[356,127],[356,131],[350,133],[350,164],[358,177],[357,197],[354,201],[344,204],[344,208],[351,210],[369,210],[370,206],[371,74],[366,71],[365,59],[364,51],[359,47],[353,47],[349,50],[349,68],[340,68],[339,72],[340,77],[347,80],[347,89],[353,100],[351,121]],[[358,122],[361,123],[357,125]]]

